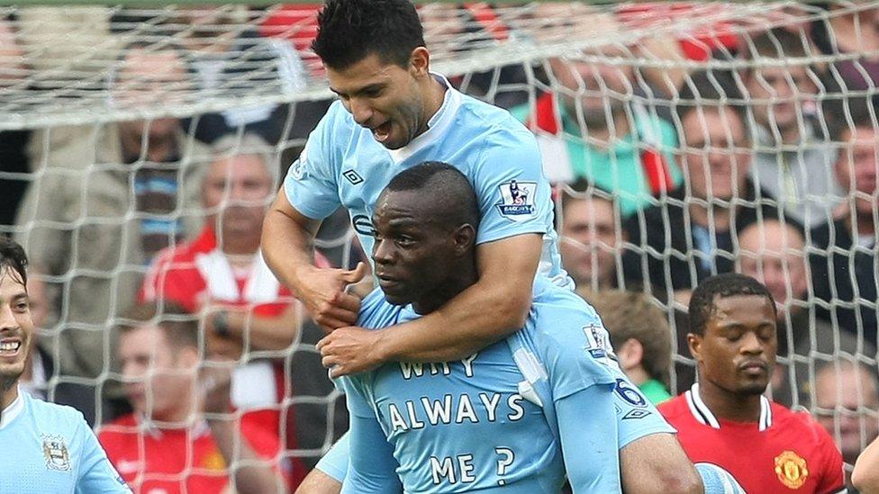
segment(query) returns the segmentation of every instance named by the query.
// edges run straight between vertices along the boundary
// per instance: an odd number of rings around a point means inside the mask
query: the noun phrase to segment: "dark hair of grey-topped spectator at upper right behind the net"
[[[745,135],[748,132],[748,117],[745,113],[745,98],[736,84],[736,76],[727,70],[706,69],[693,72],[684,80],[684,87],[675,103],[675,114],[681,125],[684,118],[697,108],[729,108],[739,116]]]

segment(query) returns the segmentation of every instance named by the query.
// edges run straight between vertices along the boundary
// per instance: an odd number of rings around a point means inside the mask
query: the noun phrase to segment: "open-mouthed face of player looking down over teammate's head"
[[[343,69],[327,67],[330,88],[358,125],[388,149],[403,148],[426,129],[424,94],[416,75],[424,67],[400,67],[369,55]]]

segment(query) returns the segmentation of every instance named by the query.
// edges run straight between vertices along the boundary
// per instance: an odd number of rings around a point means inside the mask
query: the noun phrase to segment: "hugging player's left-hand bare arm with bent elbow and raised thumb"
[[[345,287],[363,278],[366,265],[355,270],[315,267],[309,244],[319,225],[320,221],[296,211],[282,189],[263,221],[263,256],[318,324],[325,329],[350,326],[357,321],[360,300],[346,293]]]

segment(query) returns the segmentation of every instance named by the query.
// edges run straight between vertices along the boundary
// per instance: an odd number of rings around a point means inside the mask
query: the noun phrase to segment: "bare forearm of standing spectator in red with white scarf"
[[[256,316],[246,312],[231,312],[231,333],[246,341],[254,350],[285,350],[293,345],[301,324],[301,306],[291,304],[280,316]]]

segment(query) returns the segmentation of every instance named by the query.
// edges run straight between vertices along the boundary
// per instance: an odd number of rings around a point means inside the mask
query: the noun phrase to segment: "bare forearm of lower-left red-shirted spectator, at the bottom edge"
[[[254,453],[234,420],[212,419],[208,424],[238,492],[285,491],[284,480],[266,460]]]

